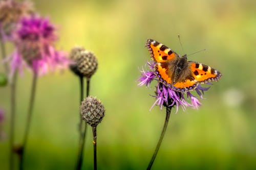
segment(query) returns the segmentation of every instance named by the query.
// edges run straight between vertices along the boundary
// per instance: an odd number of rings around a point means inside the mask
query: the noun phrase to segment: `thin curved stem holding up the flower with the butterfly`
[[[151,169],[153,163],[154,163],[154,160],[157,156],[157,153],[158,153],[158,150],[160,148],[160,145],[162,143],[162,140],[163,140],[163,137],[164,137],[164,134],[165,134],[165,131],[166,131],[166,128],[167,128],[167,125],[168,125],[168,122],[169,122],[169,117],[170,117],[170,110],[172,110],[172,107],[166,107],[166,116],[165,116],[165,122],[164,122],[164,125],[163,125],[163,129],[162,129],[162,133],[161,133],[161,136],[158,140],[158,143],[157,143],[157,147],[156,147],[156,150],[151,158],[151,161],[150,161],[150,164],[148,164],[147,166],[147,170]]]

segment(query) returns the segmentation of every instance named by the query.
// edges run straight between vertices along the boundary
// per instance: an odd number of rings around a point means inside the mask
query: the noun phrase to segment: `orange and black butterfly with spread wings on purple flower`
[[[154,71],[158,81],[174,91],[186,93],[194,90],[199,83],[221,78],[220,71],[205,64],[187,61],[186,54],[179,57],[173,50],[153,39],[147,40],[146,48],[155,61]]]

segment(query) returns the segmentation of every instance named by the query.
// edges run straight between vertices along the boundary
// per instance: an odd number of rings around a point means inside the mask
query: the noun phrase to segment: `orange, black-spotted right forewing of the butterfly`
[[[207,83],[212,81],[218,81],[221,78],[220,71],[211,68],[208,65],[189,61],[190,70],[193,77],[200,83]]]

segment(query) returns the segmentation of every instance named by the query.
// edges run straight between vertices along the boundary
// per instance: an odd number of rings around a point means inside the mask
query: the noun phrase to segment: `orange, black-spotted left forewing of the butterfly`
[[[156,62],[166,62],[178,58],[177,53],[153,39],[147,40],[146,47],[151,54],[151,58]]]

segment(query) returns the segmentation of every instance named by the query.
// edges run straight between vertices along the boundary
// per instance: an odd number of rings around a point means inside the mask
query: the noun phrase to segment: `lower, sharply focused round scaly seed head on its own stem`
[[[80,106],[81,117],[92,127],[96,127],[104,117],[104,106],[96,97],[89,96]]]

